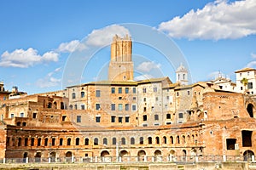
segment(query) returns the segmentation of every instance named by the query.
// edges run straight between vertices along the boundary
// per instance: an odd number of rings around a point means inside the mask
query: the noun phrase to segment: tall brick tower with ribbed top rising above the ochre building
[[[131,61],[131,37],[113,37],[111,60],[108,67],[109,81],[133,80],[133,62]]]

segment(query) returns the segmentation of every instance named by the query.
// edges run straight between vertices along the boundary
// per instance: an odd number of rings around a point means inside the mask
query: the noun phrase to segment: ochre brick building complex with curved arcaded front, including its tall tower
[[[131,37],[113,38],[107,81],[1,99],[0,157],[254,155],[253,95],[189,85],[183,65],[176,83],[133,81],[131,47]]]

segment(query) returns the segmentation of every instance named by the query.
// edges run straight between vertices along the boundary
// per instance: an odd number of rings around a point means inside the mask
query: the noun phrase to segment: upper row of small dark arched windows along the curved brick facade
[[[197,134],[192,134],[191,137],[189,135],[177,135],[175,137],[170,136],[169,139],[166,136],[163,136],[160,138],[159,136],[156,136],[155,138],[148,137],[147,140],[144,140],[143,137],[139,138],[139,141],[137,144],[187,144],[187,143],[196,143]],[[74,139],[74,144],[72,143],[72,138],[67,138],[64,142],[63,138],[55,139],[55,138],[25,138],[22,139],[19,138],[7,138],[7,145],[8,146],[55,146],[55,145],[90,145],[90,139],[85,138],[84,141],[81,141],[80,138]],[[93,145],[99,145],[99,139],[94,138],[92,140]],[[102,144],[107,145],[108,144],[108,138],[102,139]],[[110,144],[136,144],[136,139],[134,137],[131,137],[129,141],[126,140],[125,137],[122,137],[120,140],[117,138],[112,138]]]

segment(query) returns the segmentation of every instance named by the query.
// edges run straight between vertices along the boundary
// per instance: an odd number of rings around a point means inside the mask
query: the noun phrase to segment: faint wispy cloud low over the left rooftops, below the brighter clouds
[[[40,78],[38,79],[38,81],[36,82],[36,85],[39,88],[49,88],[49,87],[55,87],[61,84],[61,78],[55,78],[53,77],[55,75],[55,73],[60,72],[61,71],[61,67],[56,68],[55,71],[51,71],[49,72],[46,77],[44,78]]]

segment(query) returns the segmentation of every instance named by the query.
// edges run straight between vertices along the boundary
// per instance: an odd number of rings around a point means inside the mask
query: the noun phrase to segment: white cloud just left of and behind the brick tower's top
[[[114,35],[125,37],[130,32],[124,26],[112,25],[99,30],[91,31],[87,37],[86,44],[93,46],[106,46],[112,42]]]

